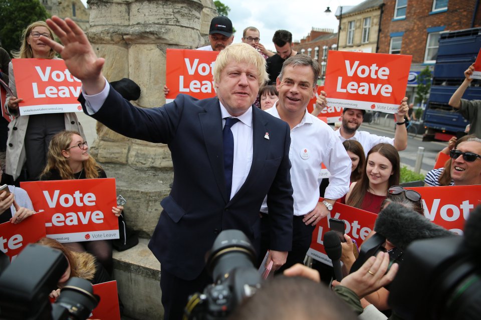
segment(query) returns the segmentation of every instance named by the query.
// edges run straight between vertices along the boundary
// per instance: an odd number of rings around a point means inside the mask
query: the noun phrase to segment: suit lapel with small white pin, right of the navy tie
[[[266,132],[269,133],[266,125],[268,120],[263,117],[261,109],[253,106],[254,110],[252,112],[252,126],[253,126],[253,153],[252,153],[252,164],[249,175],[244,181],[243,185],[234,194],[230,201],[235,201],[238,197],[243,196],[247,190],[254,186],[255,181],[257,181],[259,172],[264,167],[264,162],[267,158],[267,152],[269,150],[270,140],[265,138]]]

